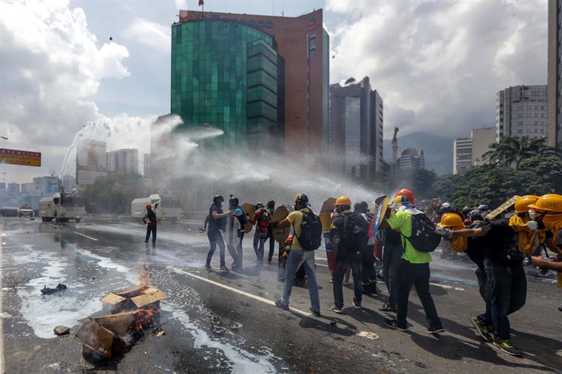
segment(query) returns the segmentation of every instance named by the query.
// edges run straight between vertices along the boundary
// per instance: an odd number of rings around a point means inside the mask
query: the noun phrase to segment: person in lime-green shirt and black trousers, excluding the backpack
[[[390,227],[402,236],[404,253],[398,268],[398,312],[396,319],[386,319],[386,326],[398,330],[407,330],[407,306],[412,285],[415,286],[421,305],[424,307],[426,319],[429,321],[429,333],[442,333],[445,331],[437,314],[437,309],[431,293],[429,293],[429,262],[431,255],[428,252],[417,251],[412,243],[412,215],[423,214],[410,204],[407,196],[396,196],[393,199],[393,215],[381,223],[380,228]]]

